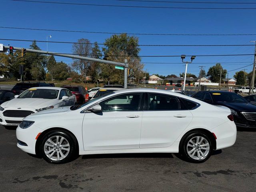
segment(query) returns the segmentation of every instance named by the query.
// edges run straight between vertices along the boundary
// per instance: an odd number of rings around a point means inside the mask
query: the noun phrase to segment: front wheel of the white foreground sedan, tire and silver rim
[[[76,155],[74,136],[62,130],[47,133],[40,144],[42,157],[49,163],[70,162]]]

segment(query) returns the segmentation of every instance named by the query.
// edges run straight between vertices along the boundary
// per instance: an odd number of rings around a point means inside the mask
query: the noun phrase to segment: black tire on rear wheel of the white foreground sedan
[[[190,142],[191,139],[194,140],[195,137],[200,137],[200,138],[204,138],[205,140],[202,141],[202,145],[207,144],[209,145],[209,150],[204,150],[203,147],[200,148],[200,146],[195,146],[195,148],[199,148],[199,149],[195,149],[195,155],[193,156],[194,158],[192,158],[189,154],[188,154],[188,150],[192,151],[192,147],[188,146],[188,142]],[[195,140],[196,141],[196,140]],[[207,141],[207,142],[206,142]],[[191,149],[191,150],[190,150]],[[210,158],[210,156],[212,155],[212,141],[210,139],[210,137],[208,136],[208,134],[202,132],[202,131],[194,131],[194,132],[189,132],[188,134],[184,135],[182,140],[180,141],[180,147],[179,147],[179,154],[181,155],[181,157],[188,161],[188,162],[192,162],[192,163],[202,163],[205,162],[206,160],[208,160],[208,158]],[[193,152],[194,152],[193,151]],[[208,153],[206,152],[208,151]],[[201,156],[201,158],[195,159],[196,157],[198,157],[198,153]],[[202,156],[202,153],[204,153],[205,157]],[[207,153],[207,154],[206,154]],[[191,153],[192,154],[192,153]],[[200,157],[199,156],[199,157]]]

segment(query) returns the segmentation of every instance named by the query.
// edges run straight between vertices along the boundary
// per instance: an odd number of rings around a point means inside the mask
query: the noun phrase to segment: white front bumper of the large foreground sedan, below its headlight
[[[17,142],[18,148],[24,152],[36,154],[36,136],[41,132],[43,132],[43,130],[34,124],[26,129],[22,129],[18,126],[16,129],[16,138],[20,141]],[[22,144],[22,142],[27,146]]]

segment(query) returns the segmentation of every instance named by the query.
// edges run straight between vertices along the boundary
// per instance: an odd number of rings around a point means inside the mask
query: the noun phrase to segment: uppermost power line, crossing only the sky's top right
[[[188,4],[256,4],[251,2],[193,2],[193,1],[154,1],[154,0],[116,0],[116,1],[131,1],[131,2],[154,2],[154,3],[188,3]]]

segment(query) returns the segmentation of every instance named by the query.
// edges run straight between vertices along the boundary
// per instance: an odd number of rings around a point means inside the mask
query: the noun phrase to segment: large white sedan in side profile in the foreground
[[[180,153],[204,162],[235,143],[236,125],[224,106],[166,90],[122,89],[32,114],[16,137],[21,150],[54,164],[106,153]]]

